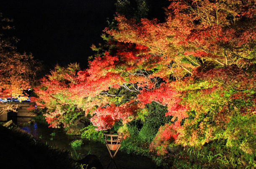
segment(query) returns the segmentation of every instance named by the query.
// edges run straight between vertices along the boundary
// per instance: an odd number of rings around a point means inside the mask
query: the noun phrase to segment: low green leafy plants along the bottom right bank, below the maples
[[[172,161],[172,167],[179,169],[243,169],[255,165],[253,155],[242,155],[244,154],[242,150],[227,147],[226,143],[226,140],[219,139],[201,148],[188,146],[178,151],[171,151],[169,156],[154,156],[153,160],[161,166],[168,166]]]

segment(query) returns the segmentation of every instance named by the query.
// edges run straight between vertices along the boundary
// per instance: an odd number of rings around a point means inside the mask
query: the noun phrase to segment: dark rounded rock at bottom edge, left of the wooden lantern
[[[104,169],[98,157],[93,154],[89,154],[84,157],[84,159],[78,160],[77,162],[80,164],[88,164],[87,168],[85,167],[86,169],[91,169],[93,167],[95,167],[96,169]]]

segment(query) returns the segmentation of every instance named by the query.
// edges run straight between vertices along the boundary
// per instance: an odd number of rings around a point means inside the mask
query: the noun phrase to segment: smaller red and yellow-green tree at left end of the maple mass
[[[34,88],[36,97],[31,101],[37,102],[38,108],[47,107],[46,121],[49,127],[59,127],[64,124],[68,127],[82,113],[76,108],[76,102],[71,100],[73,96],[69,91],[70,86],[76,83],[78,64],[70,64],[67,68],[56,66],[50,75],[40,80],[40,86]]]

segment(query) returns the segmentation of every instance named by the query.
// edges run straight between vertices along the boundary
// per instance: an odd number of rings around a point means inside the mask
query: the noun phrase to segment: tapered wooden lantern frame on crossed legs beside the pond
[[[111,168],[113,168],[113,165],[115,165],[115,167],[118,168],[117,165],[115,164],[114,157],[121,146],[121,142],[123,141],[123,134],[119,132],[116,134],[104,134],[104,141],[107,146],[107,150],[111,156],[111,160],[107,166],[107,169],[110,165],[111,165]],[[112,155],[112,151],[114,155]]]

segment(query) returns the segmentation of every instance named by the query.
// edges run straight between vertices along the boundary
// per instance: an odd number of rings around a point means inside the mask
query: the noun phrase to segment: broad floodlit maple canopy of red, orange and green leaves
[[[114,50],[86,70],[57,66],[35,88],[35,99],[48,108],[50,126],[69,126],[85,114],[98,131],[141,119],[155,102],[172,116],[150,144],[157,154],[169,145],[224,139],[253,155],[255,17],[253,0],[172,0],[164,23],[117,14],[116,27],[104,30]]]

